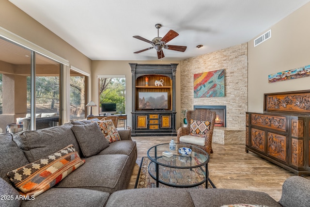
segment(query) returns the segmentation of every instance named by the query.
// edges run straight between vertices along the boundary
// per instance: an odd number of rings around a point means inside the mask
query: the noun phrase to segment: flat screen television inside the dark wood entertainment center
[[[138,110],[168,110],[168,92],[139,92]]]

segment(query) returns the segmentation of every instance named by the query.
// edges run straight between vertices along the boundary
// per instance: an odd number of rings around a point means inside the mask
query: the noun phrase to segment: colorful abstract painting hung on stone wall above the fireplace
[[[224,69],[194,74],[194,98],[224,97]]]

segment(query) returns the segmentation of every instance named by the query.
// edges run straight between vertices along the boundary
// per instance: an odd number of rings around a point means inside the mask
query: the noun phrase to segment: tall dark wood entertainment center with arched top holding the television
[[[132,73],[132,136],[176,136],[175,74],[178,64],[130,63]],[[155,86],[155,81],[163,85]],[[139,93],[167,94],[167,107],[139,106]]]

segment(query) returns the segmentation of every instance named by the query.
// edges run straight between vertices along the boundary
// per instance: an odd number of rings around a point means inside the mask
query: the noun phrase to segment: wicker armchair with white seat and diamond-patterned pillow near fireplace
[[[213,153],[212,136],[216,112],[207,109],[187,111],[187,127],[180,127],[177,133],[178,143],[189,143]]]

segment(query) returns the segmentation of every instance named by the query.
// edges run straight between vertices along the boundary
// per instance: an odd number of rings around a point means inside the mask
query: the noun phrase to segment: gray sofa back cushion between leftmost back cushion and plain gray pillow
[[[77,139],[71,130],[72,125],[62,125],[35,131],[24,131],[14,136],[14,141],[24,151],[29,162],[46,157],[73,144],[82,154]]]

